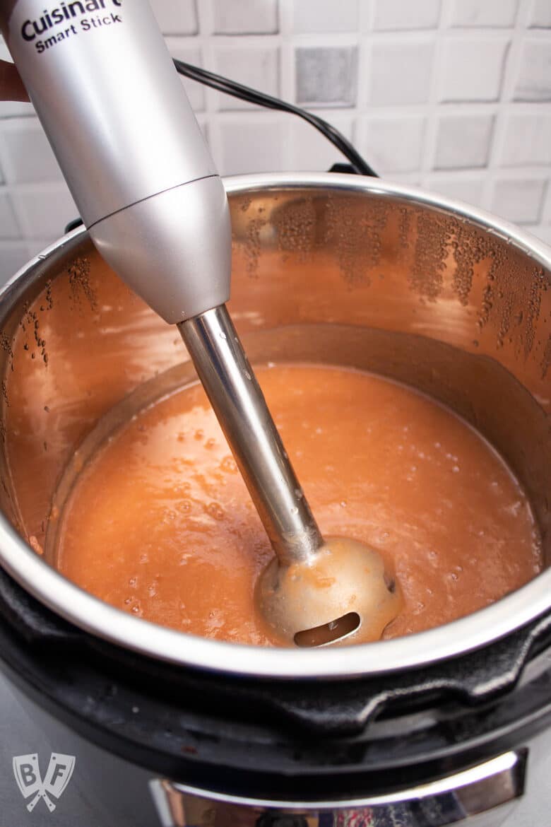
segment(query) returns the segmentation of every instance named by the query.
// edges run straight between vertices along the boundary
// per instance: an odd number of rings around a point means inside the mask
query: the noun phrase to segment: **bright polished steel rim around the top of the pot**
[[[415,187],[335,173],[249,174],[225,179],[225,184],[230,195],[270,188],[330,187],[383,197],[398,196],[404,201],[420,203],[468,219],[551,270],[551,248],[530,233],[454,198],[440,197]],[[86,235],[87,231],[81,227],[46,247],[2,288],[0,304],[8,287],[16,284],[29,270],[44,265],[61,248],[72,246]],[[549,568],[525,586],[484,609],[406,638],[322,649],[251,647],[167,629],[104,603],[65,579],[38,557],[12,528],[4,514],[0,514],[0,564],[40,603],[85,632],[157,660],[233,676],[344,679],[424,667],[494,643],[551,609]]]

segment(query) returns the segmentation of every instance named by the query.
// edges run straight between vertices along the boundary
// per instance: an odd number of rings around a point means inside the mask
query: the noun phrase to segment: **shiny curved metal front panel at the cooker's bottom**
[[[162,827],[337,827],[343,824],[448,825],[471,824],[471,817],[493,813],[499,823],[525,791],[528,750],[503,753],[477,767],[436,781],[382,796],[354,801],[322,801],[297,805],[291,801],[256,801],[197,790],[155,779],[151,795]],[[495,818],[499,821],[494,820]],[[476,820],[477,824],[481,822]],[[485,824],[490,822],[484,821]]]

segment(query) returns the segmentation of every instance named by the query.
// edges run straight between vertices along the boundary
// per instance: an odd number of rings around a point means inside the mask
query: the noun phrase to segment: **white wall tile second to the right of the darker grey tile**
[[[454,36],[444,41],[439,100],[496,101],[509,39]]]

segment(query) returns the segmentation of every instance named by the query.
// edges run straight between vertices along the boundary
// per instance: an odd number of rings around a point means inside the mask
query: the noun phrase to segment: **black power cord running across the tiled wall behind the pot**
[[[312,127],[316,127],[328,141],[331,141],[331,143],[348,158],[355,172],[360,175],[370,175],[373,178],[378,178],[378,174],[371,169],[367,161],[363,160],[362,156],[354,146],[352,146],[350,141],[345,138],[338,129],[335,129],[330,123],[324,121],[323,118],[317,117],[317,115],[313,115],[311,112],[306,112],[306,109],[301,109],[292,103],[286,103],[279,98],[273,98],[271,95],[258,92],[256,89],[249,88],[249,86],[237,84],[234,80],[222,77],[221,74],[214,74],[214,72],[208,72],[207,69],[200,69],[198,66],[184,63],[183,60],[174,60],[174,65],[179,74],[184,74],[187,78],[197,80],[200,84],[218,89],[219,92],[225,92],[234,98],[240,98],[249,103],[256,103],[258,106],[264,106],[268,109],[278,109],[280,112],[291,112],[292,115],[302,117],[305,121],[311,123]]]

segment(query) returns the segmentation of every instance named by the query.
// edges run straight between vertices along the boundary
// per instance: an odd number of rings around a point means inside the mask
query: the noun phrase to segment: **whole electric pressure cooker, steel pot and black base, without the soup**
[[[454,409],[524,486],[549,566],[549,247],[353,175],[226,189],[251,361],[371,370]],[[549,568],[454,623],[359,646],[250,648],[121,612],[55,571],[63,480],[191,363],[83,229],[7,284],[0,326],[2,671],[40,727],[74,739],[74,772],[118,824],[547,823]]]

